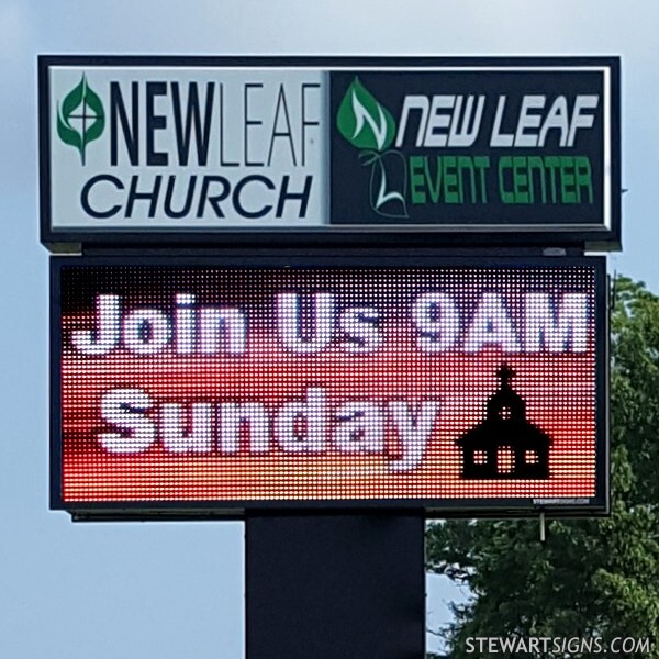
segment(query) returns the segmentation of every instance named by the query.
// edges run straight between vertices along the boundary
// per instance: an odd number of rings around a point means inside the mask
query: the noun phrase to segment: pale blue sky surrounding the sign
[[[0,0],[0,656],[239,659],[239,523],[75,525],[48,511],[48,278],[37,54],[619,55],[624,252],[659,292],[654,0]],[[435,624],[455,591],[429,580]]]

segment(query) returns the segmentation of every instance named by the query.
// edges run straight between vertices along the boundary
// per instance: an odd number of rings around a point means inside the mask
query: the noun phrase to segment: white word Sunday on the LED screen
[[[426,400],[414,407],[406,401],[331,405],[324,387],[309,387],[303,400],[283,402],[273,411],[259,402],[158,405],[142,389],[113,389],[101,401],[101,417],[112,431],[99,433],[98,439],[109,453],[123,455],[141,454],[160,440],[169,454],[232,456],[246,437],[255,456],[273,449],[317,456],[331,448],[346,455],[388,456],[384,438],[390,427],[401,455],[390,457],[388,469],[405,472],[423,459],[439,401]]]

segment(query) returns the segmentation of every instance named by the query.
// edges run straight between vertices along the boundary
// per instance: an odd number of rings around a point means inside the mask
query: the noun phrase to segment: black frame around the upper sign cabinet
[[[49,69],[70,67],[273,67],[310,68],[332,71],[342,69],[359,71],[394,71],[395,69],[432,70],[455,67],[457,69],[537,69],[560,68],[563,71],[583,67],[599,67],[608,71],[610,114],[608,154],[611,158],[608,196],[597,202],[610,209],[608,224],[584,226],[573,217],[573,224],[550,222],[535,226],[506,224],[505,217],[498,224],[473,222],[470,225],[438,225],[433,223],[406,225],[389,222],[376,224],[359,216],[340,224],[328,224],[304,230],[291,227],[212,228],[63,228],[53,226],[52,172],[51,172],[51,115]],[[271,245],[424,245],[450,247],[479,246],[560,246],[588,249],[621,248],[621,63],[618,57],[155,57],[155,56],[65,56],[42,55],[38,58],[40,88],[40,216],[41,239],[53,252],[70,250],[71,244],[100,247],[120,246],[180,246],[194,247],[214,244],[219,246],[271,246]],[[529,75],[532,75],[529,72]],[[333,158],[327,154],[327,158]],[[606,175],[606,172],[605,172]],[[332,182],[330,182],[332,188]],[[576,206],[577,208],[577,206]],[[487,211],[484,211],[487,213]],[[332,210],[330,211],[332,217]],[[345,222],[344,222],[345,221]],[[350,224],[359,222],[359,224]],[[68,245],[68,246],[67,246]]]

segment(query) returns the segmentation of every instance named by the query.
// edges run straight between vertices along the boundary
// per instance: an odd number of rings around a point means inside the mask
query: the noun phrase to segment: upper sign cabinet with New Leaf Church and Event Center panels
[[[42,239],[619,246],[617,58],[40,58]]]

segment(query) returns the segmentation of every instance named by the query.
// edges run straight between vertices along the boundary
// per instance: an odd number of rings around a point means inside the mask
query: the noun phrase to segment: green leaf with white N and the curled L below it
[[[371,167],[371,209],[389,217],[407,217],[406,163],[400,152],[389,149],[396,133],[395,121],[357,77],[338,107],[336,126],[359,149],[362,165]]]

